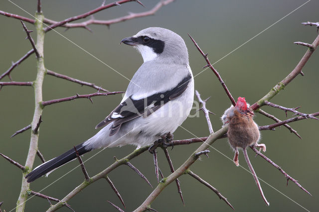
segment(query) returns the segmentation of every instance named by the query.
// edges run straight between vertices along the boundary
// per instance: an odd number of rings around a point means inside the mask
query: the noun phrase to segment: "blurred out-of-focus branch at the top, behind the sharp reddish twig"
[[[149,11],[138,12],[138,13],[130,13],[128,15],[125,15],[125,16],[119,17],[119,18],[114,18],[114,19],[110,19],[110,20],[96,20],[96,19],[94,19],[92,17],[91,19],[83,21],[83,22],[80,22],[80,23],[65,23],[64,25],[61,25],[61,26],[62,27],[66,27],[66,28],[82,27],[82,28],[86,28],[88,30],[89,30],[89,28],[87,28],[87,26],[90,25],[90,24],[100,24],[100,25],[110,26],[111,24],[114,24],[114,23],[119,23],[119,22],[123,22],[123,21],[126,21],[126,20],[134,19],[134,18],[154,15],[162,6],[167,5],[168,3],[171,3],[173,1],[174,0],[160,0],[160,2],[157,3]],[[44,18],[43,22],[49,23],[49,24],[56,24],[57,23],[56,21],[50,20],[50,19],[47,19],[47,18]]]

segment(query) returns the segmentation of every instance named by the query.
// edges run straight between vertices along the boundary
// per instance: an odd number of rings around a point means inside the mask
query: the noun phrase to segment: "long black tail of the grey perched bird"
[[[75,146],[76,150],[79,152],[79,155],[83,155],[84,153],[87,153],[91,151],[91,149],[85,149],[85,146],[83,146],[83,143]],[[25,178],[27,179],[28,183],[31,183],[38,179],[39,177],[49,173],[53,169],[59,168],[60,166],[66,164],[67,162],[70,162],[71,160],[76,158],[76,153],[74,148],[70,149],[69,151],[63,153],[62,155],[53,158],[52,160],[49,160],[42,165],[35,168],[32,172],[27,174]]]

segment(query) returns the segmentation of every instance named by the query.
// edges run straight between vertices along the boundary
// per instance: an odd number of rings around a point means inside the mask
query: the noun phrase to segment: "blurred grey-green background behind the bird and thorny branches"
[[[36,10],[36,0],[14,0],[14,2],[30,13]],[[108,1],[107,1],[108,2]],[[146,8],[135,2],[117,6],[95,14],[97,19],[111,19],[126,15],[128,12],[141,12],[152,8],[157,0],[143,0]],[[102,25],[89,26],[94,32],[76,28],[64,31],[57,28],[68,39],[72,40],[106,64],[131,78],[143,60],[135,49],[119,45],[124,37],[136,34],[150,26],[160,26],[173,30],[182,36],[189,51],[189,61],[193,74],[198,74],[205,61],[195,49],[187,33],[190,33],[204,52],[209,52],[213,63],[228,54],[286,14],[290,13],[306,0],[176,0],[162,7],[154,16],[143,17],[111,25],[110,29]],[[42,10],[45,17],[62,20],[69,16],[81,14],[98,7],[101,0],[43,0]],[[241,48],[220,60],[214,67],[220,72],[234,98],[244,96],[254,103],[264,96],[277,82],[281,81],[296,66],[304,55],[306,48],[293,44],[294,41],[313,42],[316,28],[303,26],[304,21],[319,21],[319,1],[312,0],[277,24],[252,39]],[[30,17],[24,11],[7,0],[0,1],[0,9]],[[34,27],[26,23],[28,29]],[[29,49],[30,43],[25,38],[21,23],[17,19],[0,16],[0,72],[3,73]],[[35,32],[32,33],[35,39]],[[94,59],[92,56],[67,41],[54,31],[45,36],[44,46],[46,68],[95,83],[110,91],[125,91],[128,80]],[[298,76],[284,91],[280,92],[272,102],[288,107],[302,106],[300,111],[316,112],[319,110],[319,52],[315,52],[303,69],[305,76]],[[32,81],[36,75],[34,55],[19,65],[12,72],[14,81]],[[2,81],[8,81],[6,77]],[[212,96],[207,107],[216,113],[211,115],[215,130],[219,129],[219,117],[230,105],[221,85],[209,70],[195,78],[195,89],[202,98]],[[75,93],[89,94],[95,90],[81,87],[71,82],[46,76],[43,84],[43,99],[51,100],[73,96]],[[47,106],[44,109],[39,138],[39,149],[48,160],[73,145],[81,143],[93,136],[100,122],[121,101],[121,95],[95,97],[94,104],[85,99]],[[29,87],[3,87],[0,92],[0,152],[24,164],[28,151],[30,131],[10,138],[17,129],[28,125],[34,109],[33,91]],[[264,110],[285,119],[285,112],[264,107]],[[191,113],[194,113],[192,111]],[[288,113],[289,117],[292,113]],[[259,125],[273,123],[272,120],[257,114]],[[208,128],[204,115],[188,118],[182,125],[194,135],[207,136]],[[269,163],[254,157],[249,151],[251,162],[257,175],[267,184],[261,182],[270,207],[263,203],[253,177],[242,168],[214,149],[210,149],[209,159],[203,157],[191,170],[216,187],[239,212],[301,212],[319,211],[318,183],[318,128],[317,120],[302,120],[291,126],[303,139],[291,134],[285,127],[276,131],[262,131],[262,143],[267,145],[266,155],[280,165],[289,175],[299,180],[313,195],[309,196],[292,182],[286,187],[285,177]],[[174,133],[175,139],[194,137],[182,128]],[[169,150],[174,167],[179,167],[200,144],[178,146]],[[213,147],[229,158],[233,158],[227,140],[222,139]],[[133,146],[105,149],[86,163],[90,176],[100,172],[111,163],[113,156],[121,158],[134,150]],[[84,156],[88,159],[97,151]],[[164,175],[169,174],[168,164],[159,150],[159,166]],[[144,153],[132,163],[157,185],[154,174],[153,156]],[[243,154],[240,163],[245,164]],[[40,164],[36,158],[35,166]],[[31,184],[31,189],[40,191],[56,179],[77,166],[71,162],[48,178],[40,178]],[[19,195],[21,172],[16,167],[0,158],[0,202],[1,209],[14,209]],[[136,209],[152,192],[152,189],[128,167],[120,167],[109,174],[125,201],[125,211]],[[67,174],[58,182],[48,186],[43,194],[62,199],[73,188],[83,181],[80,168]],[[179,178],[185,200],[182,205],[174,183],[169,185],[152,204],[157,211],[191,212],[191,211],[232,211],[223,201],[190,176]],[[117,196],[106,181],[100,180],[86,188],[68,203],[75,211],[116,211],[107,200],[123,208]],[[305,209],[303,209],[302,207]],[[37,197],[26,204],[26,211],[44,211],[48,202]],[[69,211],[66,208],[60,211]]]

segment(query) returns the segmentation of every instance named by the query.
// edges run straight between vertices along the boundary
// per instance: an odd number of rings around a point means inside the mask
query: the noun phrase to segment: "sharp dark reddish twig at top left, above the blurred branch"
[[[50,31],[51,29],[54,29],[55,27],[58,27],[58,26],[62,26],[66,23],[69,23],[71,21],[75,21],[75,20],[78,20],[78,19],[82,19],[82,18],[86,18],[87,16],[89,15],[92,15],[96,12],[99,12],[101,10],[104,10],[104,9],[107,9],[107,8],[110,8],[110,7],[113,7],[113,6],[117,6],[117,5],[121,5],[123,3],[126,3],[126,2],[130,2],[130,1],[136,1],[136,0],[119,0],[119,1],[115,1],[115,2],[112,2],[112,3],[109,3],[109,4],[106,4],[106,5],[101,5],[91,11],[88,11],[88,12],[85,12],[81,15],[76,15],[76,16],[73,16],[73,17],[69,17],[65,20],[62,20],[62,21],[59,21],[59,22],[56,22],[54,24],[51,24],[50,26],[46,27],[44,29],[45,32],[48,32]]]

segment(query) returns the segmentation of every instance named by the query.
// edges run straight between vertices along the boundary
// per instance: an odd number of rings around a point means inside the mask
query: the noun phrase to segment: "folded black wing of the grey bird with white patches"
[[[113,122],[110,136],[116,134],[121,125],[139,116],[147,117],[168,101],[179,97],[188,87],[191,75],[187,75],[178,85],[166,92],[156,93],[148,98],[133,100],[132,96],[117,106],[103,121],[96,125],[96,129]]]

